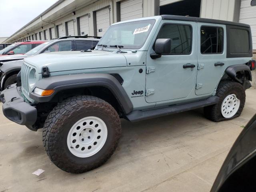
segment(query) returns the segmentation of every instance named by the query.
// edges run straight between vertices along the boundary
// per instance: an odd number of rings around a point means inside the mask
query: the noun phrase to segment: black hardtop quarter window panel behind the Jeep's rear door
[[[251,30],[227,25],[227,58],[252,57]]]

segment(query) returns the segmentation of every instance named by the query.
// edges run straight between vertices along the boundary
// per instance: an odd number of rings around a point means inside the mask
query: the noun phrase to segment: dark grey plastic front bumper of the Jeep
[[[31,128],[36,122],[37,110],[24,101],[21,93],[21,87],[17,87],[16,84],[1,92],[3,113],[9,120]]]

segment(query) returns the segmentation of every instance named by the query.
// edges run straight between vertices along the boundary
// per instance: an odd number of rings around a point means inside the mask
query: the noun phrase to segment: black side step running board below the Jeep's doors
[[[159,116],[180,113],[180,112],[189,111],[192,109],[197,109],[197,108],[201,108],[209,105],[214,105],[218,103],[218,100],[219,100],[219,97],[212,96],[206,100],[201,100],[201,101],[192,102],[192,103],[173,105],[165,108],[154,108],[150,110],[142,110],[142,111],[137,110],[127,114],[126,119],[128,119],[131,122],[136,122],[140,120],[146,120],[149,118],[155,118]]]

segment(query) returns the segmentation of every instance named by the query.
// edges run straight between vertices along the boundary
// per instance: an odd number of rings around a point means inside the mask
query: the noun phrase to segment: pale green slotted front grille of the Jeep
[[[28,87],[28,75],[31,70],[31,66],[26,62],[23,62],[20,70],[21,75],[21,89],[23,94],[29,98],[29,87]]]

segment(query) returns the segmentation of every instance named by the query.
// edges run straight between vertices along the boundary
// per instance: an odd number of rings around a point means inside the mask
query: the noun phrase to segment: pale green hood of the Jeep
[[[47,66],[50,72],[127,66],[123,54],[99,50],[43,53],[24,61],[35,66],[39,73],[43,66]]]

